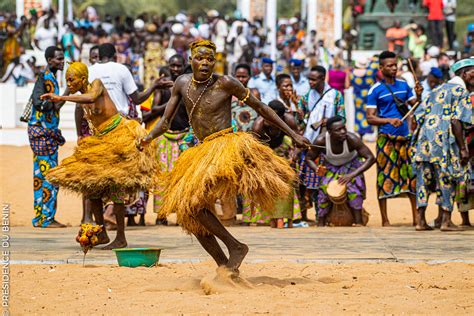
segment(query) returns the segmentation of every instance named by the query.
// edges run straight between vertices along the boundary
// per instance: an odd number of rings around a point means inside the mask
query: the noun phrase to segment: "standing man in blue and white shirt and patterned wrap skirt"
[[[413,225],[416,225],[416,185],[409,161],[409,130],[399,105],[414,105],[421,100],[423,88],[418,82],[416,97],[408,84],[398,80],[397,55],[385,51],[379,56],[383,79],[369,90],[367,121],[379,127],[377,138],[377,191],[382,226],[389,226],[387,198],[407,193],[410,198]]]

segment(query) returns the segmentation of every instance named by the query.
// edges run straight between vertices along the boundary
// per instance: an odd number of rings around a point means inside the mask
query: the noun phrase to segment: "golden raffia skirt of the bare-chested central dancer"
[[[196,219],[219,198],[243,195],[263,209],[288,196],[296,175],[288,162],[249,133],[227,129],[184,151],[173,170],[162,178],[161,216],[176,212],[182,228],[195,235],[209,231]]]

